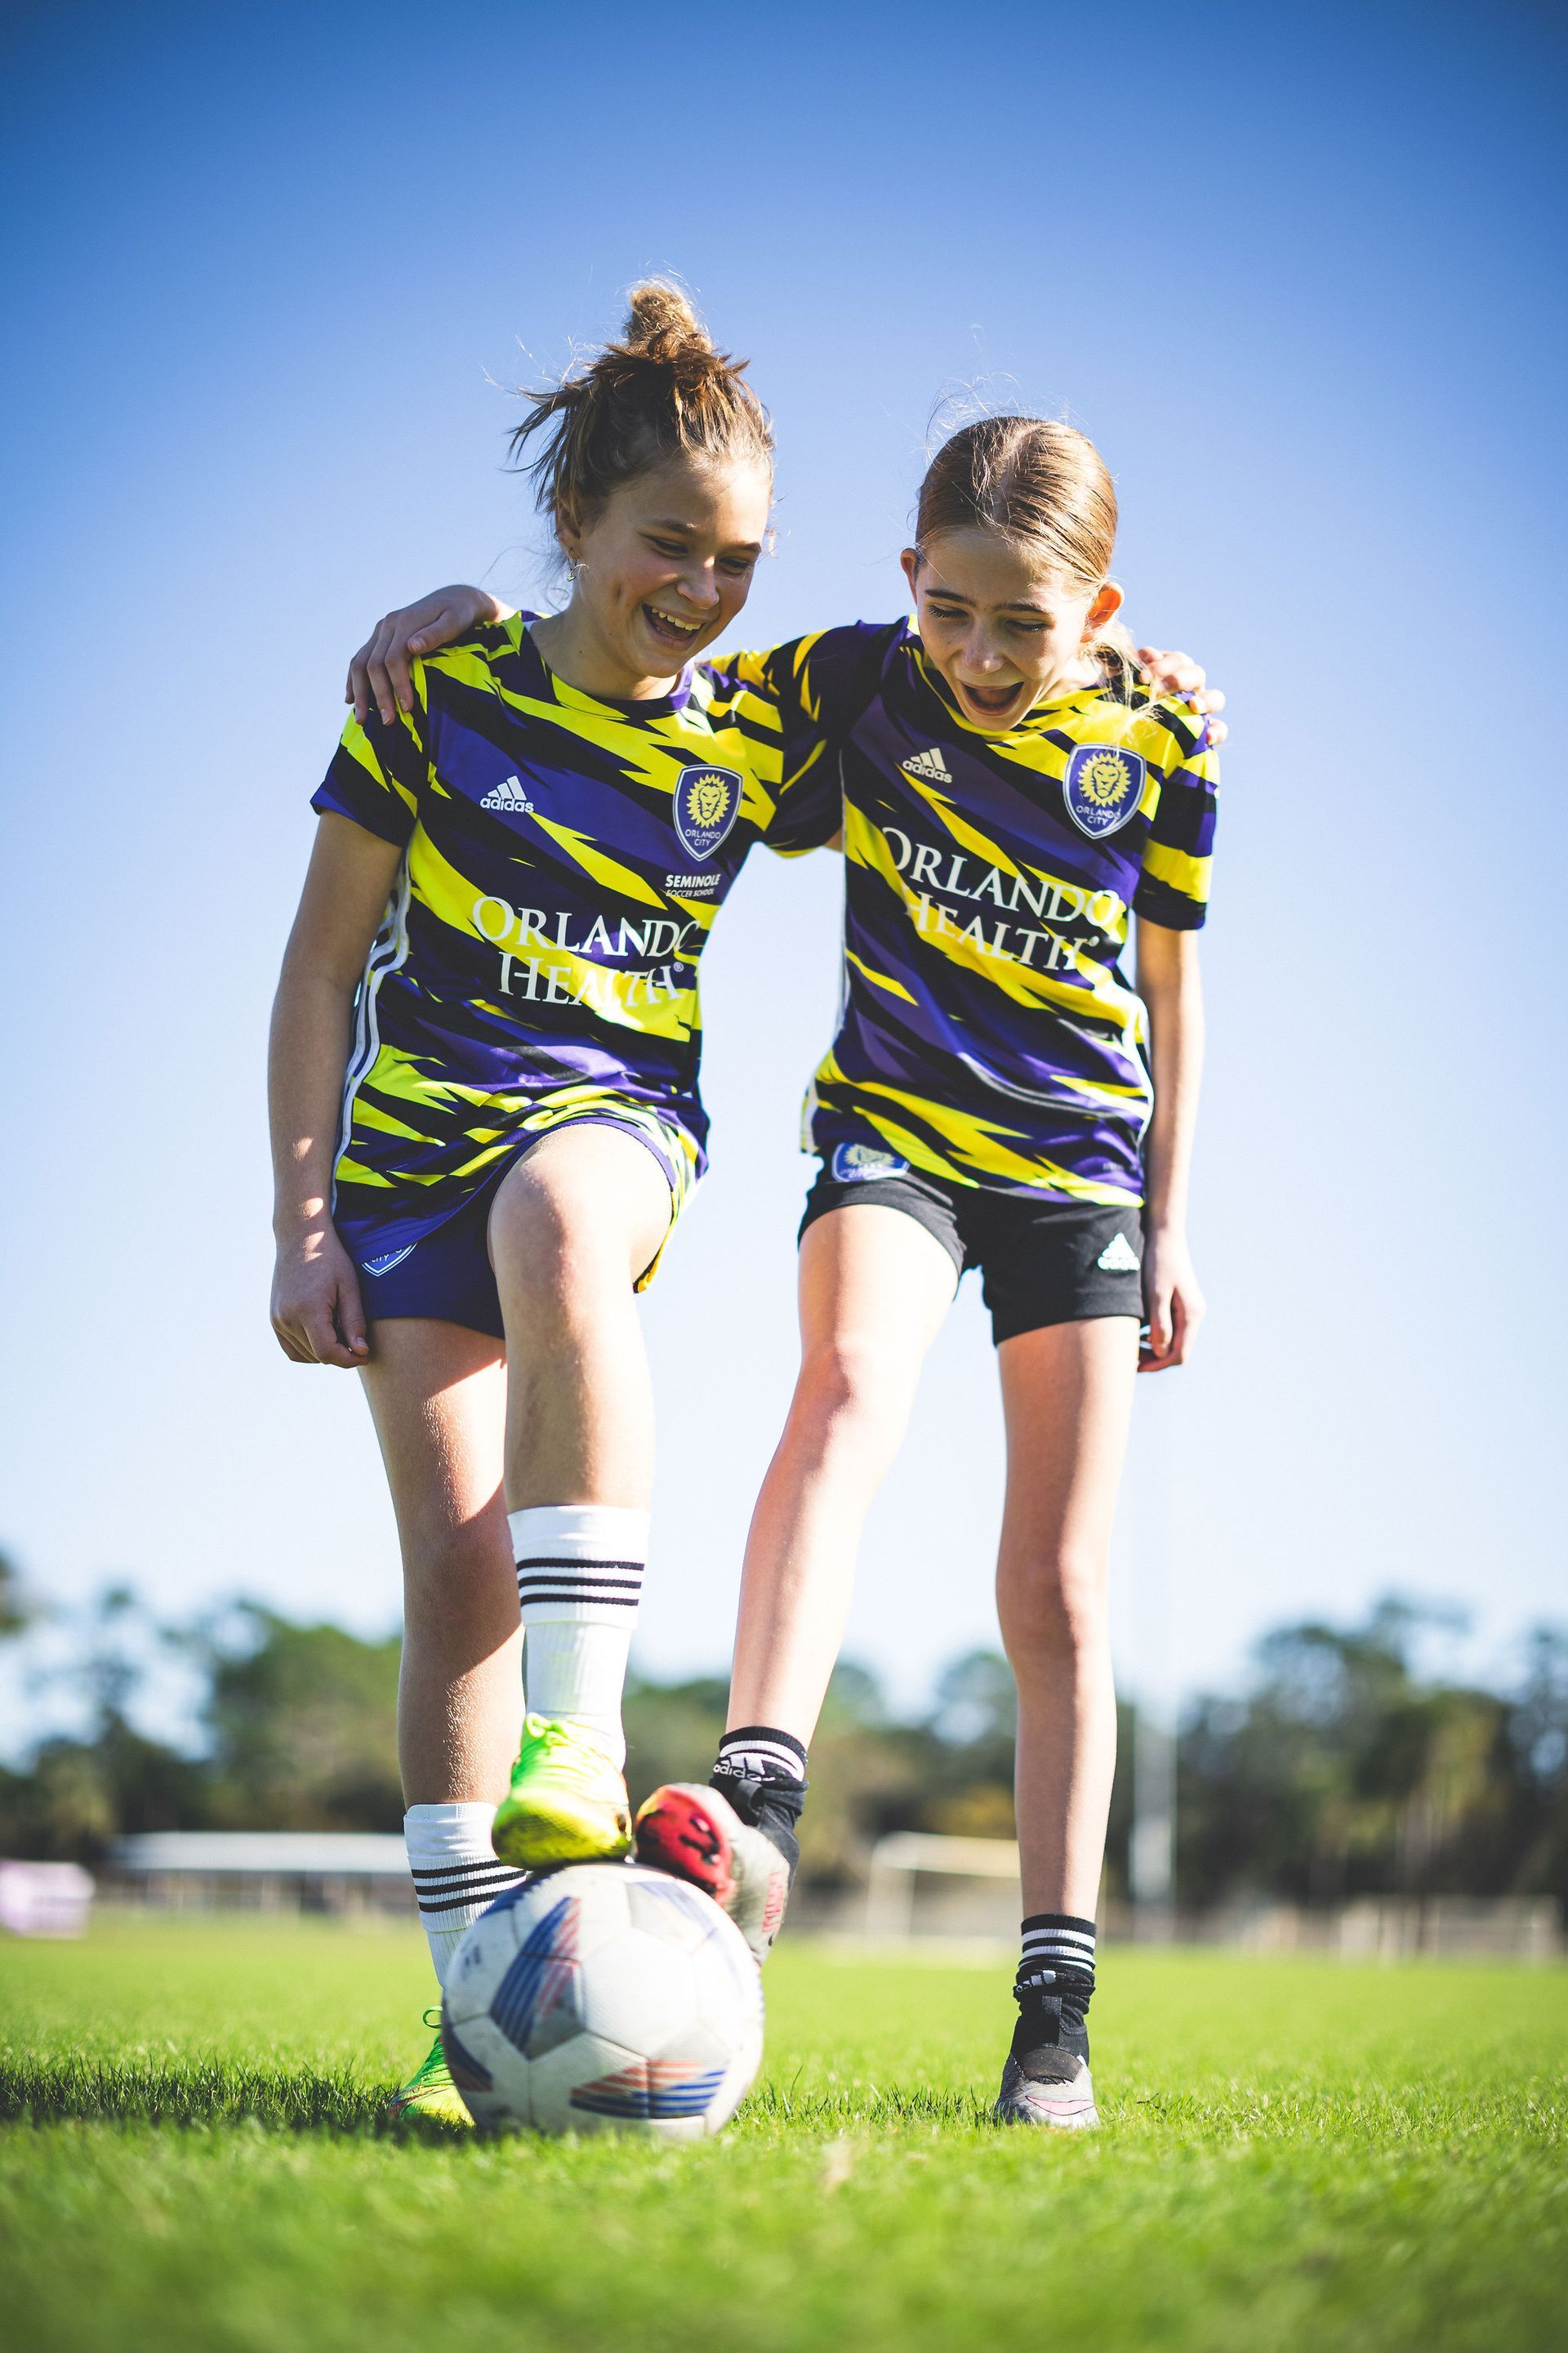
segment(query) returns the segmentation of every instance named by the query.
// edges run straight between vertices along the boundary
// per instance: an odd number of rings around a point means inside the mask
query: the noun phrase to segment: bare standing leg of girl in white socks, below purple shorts
[[[407,1805],[505,1793],[522,1722],[501,1501],[505,1358],[461,1325],[371,1325],[364,1391],[402,1544],[397,1762]]]

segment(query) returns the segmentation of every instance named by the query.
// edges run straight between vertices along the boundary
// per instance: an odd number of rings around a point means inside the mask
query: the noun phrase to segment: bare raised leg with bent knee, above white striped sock
[[[668,1226],[670,1186],[654,1153],[614,1127],[543,1136],[496,1193],[489,1254],[505,1322],[510,1511],[646,1508],[654,1393],[632,1282]]]

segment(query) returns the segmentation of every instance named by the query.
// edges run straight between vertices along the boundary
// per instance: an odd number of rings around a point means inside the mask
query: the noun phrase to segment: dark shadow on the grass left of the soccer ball
[[[360,2134],[395,2141],[463,2139],[430,2118],[388,2118],[393,2085],[348,2068],[244,2066],[226,2059],[0,2059],[7,2125],[259,2125],[263,2132]]]

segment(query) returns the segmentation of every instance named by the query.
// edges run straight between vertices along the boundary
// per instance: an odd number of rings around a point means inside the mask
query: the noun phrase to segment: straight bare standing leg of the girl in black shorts
[[[1110,1529],[1138,1325],[1051,1325],[997,1355],[1009,1461],[997,1612],[1018,1680],[1023,1908],[1093,1920],[1117,1767]]]

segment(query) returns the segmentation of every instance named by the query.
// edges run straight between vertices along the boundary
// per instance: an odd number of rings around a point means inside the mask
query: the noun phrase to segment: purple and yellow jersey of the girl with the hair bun
[[[527,631],[414,666],[416,708],[343,729],[313,807],[404,852],[364,967],[334,1217],[409,1249],[569,1118],[703,1167],[698,958],[748,852],[839,826],[837,769],[773,671],[696,664],[658,701],[557,678]],[[788,682],[788,673],[785,682]]]

